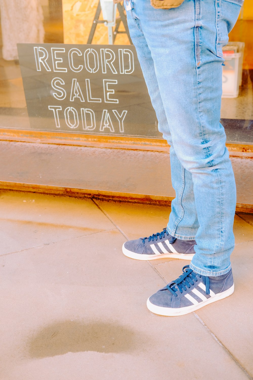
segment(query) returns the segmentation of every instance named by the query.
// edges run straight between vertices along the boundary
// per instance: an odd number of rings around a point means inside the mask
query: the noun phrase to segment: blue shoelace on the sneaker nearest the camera
[[[183,290],[185,291],[186,288],[190,289],[191,285],[195,285],[195,282],[198,282],[200,278],[203,278],[204,284],[206,285],[206,294],[210,294],[209,277],[196,274],[190,269],[189,265],[185,265],[183,268],[183,274],[181,274],[178,279],[171,281],[166,288],[173,294],[173,296],[177,297],[178,294],[176,292],[178,290],[180,293],[183,293]]]

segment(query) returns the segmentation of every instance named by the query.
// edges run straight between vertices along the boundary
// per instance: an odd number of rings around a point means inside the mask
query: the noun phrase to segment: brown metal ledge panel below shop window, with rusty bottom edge
[[[237,212],[253,213],[253,160],[231,157]],[[169,205],[168,152],[0,141],[0,189]]]

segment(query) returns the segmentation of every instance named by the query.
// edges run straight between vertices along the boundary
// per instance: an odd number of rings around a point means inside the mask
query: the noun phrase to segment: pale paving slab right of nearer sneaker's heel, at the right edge
[[[234,294],[197,313],[253,377],[253,242],[236,245],[231,263]]]

